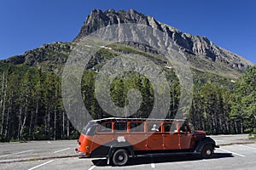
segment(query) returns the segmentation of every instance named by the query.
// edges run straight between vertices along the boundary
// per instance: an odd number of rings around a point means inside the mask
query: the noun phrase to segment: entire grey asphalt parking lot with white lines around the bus
[[[132,159],[124,167],[107,165],[105,158],[79,159],[76,140],[29,141],[0,144],[0,169],[256,169],[256,142],[247,135],[211,136],[220,148],[208,160],[194,156],[159,156]]]

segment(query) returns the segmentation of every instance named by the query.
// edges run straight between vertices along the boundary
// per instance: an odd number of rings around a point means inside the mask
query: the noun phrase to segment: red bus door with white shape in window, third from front
[[[147,149],[148,150],[162,150],[163,149],[163,136],[161,133],[160,122],[147,123]]]

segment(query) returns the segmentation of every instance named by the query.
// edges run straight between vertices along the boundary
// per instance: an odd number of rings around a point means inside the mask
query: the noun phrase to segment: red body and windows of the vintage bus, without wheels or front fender
[[[153,130],[154,124],[157,130]],[[204,131],[193,131],[183,120],[107,118],[92,121],[84,128],[76,151],[79,156],[85,157],[108,156],[114,144],[130,147],[135,154],[188,151],[204,138]]]

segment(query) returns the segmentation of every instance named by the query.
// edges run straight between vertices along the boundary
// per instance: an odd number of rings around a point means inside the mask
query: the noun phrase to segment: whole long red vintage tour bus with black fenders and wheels
[[[107,157],[125,165],[130,157],[194,154],[211,158],[218,146],[204,131],[177,119],[104,118],[88,122],[75,149],[79,157]]]

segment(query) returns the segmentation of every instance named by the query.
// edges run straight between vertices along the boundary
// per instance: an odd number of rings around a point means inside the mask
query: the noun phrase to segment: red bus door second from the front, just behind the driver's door
[[[176,122],[164,122],[163,124],[163,146],[164,150],[179,150],[180,136],[177,133]]]

